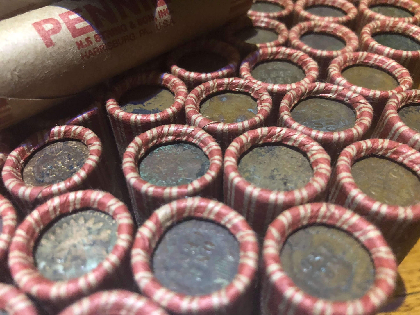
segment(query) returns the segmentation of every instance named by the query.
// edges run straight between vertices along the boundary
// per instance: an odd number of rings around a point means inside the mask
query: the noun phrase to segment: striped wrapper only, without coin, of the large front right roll
[[[375,278],[370,289],[359,299],[329,301],[307,294],[281,266],[280,251],[288,236],[310,224],[322,224],[346,231],[367,249],[373,262]],[[381,232],[356,213],[324,202],[293,207],[270,224],[263,247],[264,278],[262,311],[280,314],[376,314],[394,291],[397,266],[394,255]]]

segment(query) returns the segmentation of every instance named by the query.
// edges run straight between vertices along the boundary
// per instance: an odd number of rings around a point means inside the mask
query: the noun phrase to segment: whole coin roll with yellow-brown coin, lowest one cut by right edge
[[[376,163],[382,161],[379,164],[382,166],[377,167],[380,171],[372,174],[376,172],[373,164],[375,161],[373,161],[363,166],[364,168],[359,168],[358,173],[362,172],[362,174],[355,178],[355,165],[363,162],[364,157],[365,162],[372,158],[378,159]],[[381,157],[387,159],[384,160]],[[331,176],[329,201],[347,207],[375,224],[381,230],[399,262],[420,236],[418,228],[420,203],[412,201],[417,198],[409,190],[418,182],[419,163],[420,153],[406,144],[388,139],[368,139],[346,147],[340,153]],[[362,176],[363,178],[368,176],[369,180],[363,181]],[[358,180],[359,185],[356,184],[355,179]],[[407,183],[414,184],[411,186],[412,184]],[[364,185],[363,191],[360,184]],[[409,186],[404,189],[404,185]],[[386,192],[378,188],[386,189]],[[373,197],[375,192],[375,197]]]

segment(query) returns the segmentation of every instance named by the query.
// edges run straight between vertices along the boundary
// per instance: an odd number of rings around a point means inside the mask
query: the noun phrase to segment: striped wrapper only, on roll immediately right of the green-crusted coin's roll
[[[306,153],[313,176],[302,188],[279,191],[259,188],[238,172],[238,160],[253,145],[284,143]],[[226,205],[244,215],[259,235],[283,210],[324,198],[331,175],[331,160],[318,142],[289,128],[267,127],[247,131],[237,137],[225,152],[223,160],[224,198]]]

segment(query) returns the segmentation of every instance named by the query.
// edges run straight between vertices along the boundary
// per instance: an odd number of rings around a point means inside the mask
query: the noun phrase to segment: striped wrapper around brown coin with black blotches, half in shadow
[[[171,107],[150,115],[128,113],[122,110],[118,104],[121,96],[130,89],[142,85],[154,85],[169,89],[175,95]],[[182,122],[187,94],[188,90],[180,79],[171,74],[159,72],[139,73],[116,83],[108,94],[105,107],[120,156],[123,156],[127,146],[136,135],[157,126]]]

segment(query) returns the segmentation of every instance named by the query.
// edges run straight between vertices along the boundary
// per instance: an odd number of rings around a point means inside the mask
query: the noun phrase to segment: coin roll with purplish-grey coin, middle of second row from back
[[[319,79],[327,77],[331,60],[356,51],[358,45],[359,39],[352,30],[327,21],[301,22],[289,32],[289,46],[303,51],[318,63]]]

